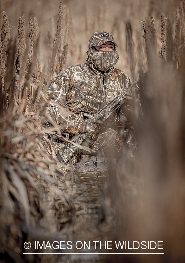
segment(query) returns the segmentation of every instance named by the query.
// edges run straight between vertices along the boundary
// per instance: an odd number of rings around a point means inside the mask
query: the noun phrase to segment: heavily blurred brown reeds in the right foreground
[[[177,8],[175,20],[161,15],[162,49],[158,52],[153,17],[142,21],[148,72],[144,75],[139,40],[140,103],[135,101],[133,119],[137,149],[134,162],[123,149],[107,196],[109,240],[132,244],[132,250],[114,252],[164,255],[110,255],[107,262],[185,260],[184,4]],[[163,250],[133,249],[133,241],[144,240],[163,241]]]

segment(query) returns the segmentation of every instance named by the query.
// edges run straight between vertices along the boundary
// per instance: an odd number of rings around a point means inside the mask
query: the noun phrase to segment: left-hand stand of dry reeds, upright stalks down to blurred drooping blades
[[[23,17],[20,19],[19,32],[24,34]],[[3,27],[5,29],[5,27]],[[5,31],[3,31],[5,32]],[[39,52],[39,40],[35,42],[34,34],[32,34],[32,61],[29,64],[28,72],[26,73],[26,81],[24,83],[24,72],[28,56],[28,49],[24,52],[24,39],[20,38],[22,43],[19,47],[19,63],[20,75],[19,85],[15,85],[15,51],[16,40],[10,41],[7,50],[8,58],[4,66],[6,66],[6,77],[4,82],[1,82],[0,89],[0,225],[1,236],[0,243],[1,253],[7,252],[15,262],[22,262],[22,231],[26,233],[27,238],[33,229],[42,228],[44,226],[41,221],[41,213],[46,217],[47,206],[41,202],[43,191],[49,191],[51,200],[53,200],[52,209],[54,211],[57,200],[67,206],[72,207],[71,190],[63,174],[66,170],[61,166],[56,158],[48,153],[46,147],[43,146],[41,138],[46,137],[48,131],[41,127],[41,122],[52,122],[46,114],[47,103],[38,103],[36,96],[42,94],[41,89],[44,82],[44,75],[39,80],[40,86],[36,86],[32,80],[33,70],[36,65],[36,59]],[[21,41],[22,40],[22,41]],[[3,42],[4,43],[4,42]],[[2,41],[0,43],[1,47]],[[1,52],[2,54],[2,52]],[[4,53],[3,53],[4,54]],[[22,58],[22,59],[21,59]],[[1,60],[0,60],[1,61]],[[2,64],[1,64],[2,70]],[[2,78],[1,78],[2,81]],[[3,86],[6,87],[6,92]],[[32,94],[32,100],[28,101],[29,86],[32,85],[35,92]],[[19,90],[18,90],[19,87]],[[18,101],[22,97],[22,101]],[[7,100],[8,94],[8,100]],[[30,98],[29,98],[30,99]],[[32,103],[32,109],[37,109],[37,112],[29,112],[28,103]],[[38,139],[40,138],[40,139]],[[57,178],[60,178],[66,183],[67,193],[59,191],[56,186]],[[42,193],[39,187],[42,186]],[[38,212],[40,211],[40,212]],[[55,219],[50,219],[50,223],[57,225]],[[53,221],[52,221],[53,220]],[[24,226],[24,227],[23,227]],[[46,227],[46,226],[45,226]],[[39,235],[41,232],[36,230]],[[12,251],[13,254],[12,254]]]

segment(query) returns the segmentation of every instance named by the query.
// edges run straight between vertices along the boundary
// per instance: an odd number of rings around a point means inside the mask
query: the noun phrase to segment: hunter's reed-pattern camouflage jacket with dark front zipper
[[[101,73],[91,61],[74,65],[61,71],[46,86],[48,110],[63,130],[77,134],[85,113],[97,113],[130,84],[129,77],[117,68]]]

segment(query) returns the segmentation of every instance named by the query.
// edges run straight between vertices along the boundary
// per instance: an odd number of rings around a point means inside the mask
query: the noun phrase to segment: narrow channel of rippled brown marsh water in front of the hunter
[[[60,226],[64,227],[65,238],[73,242],[72,249],[61,255],[60,263],[67,262],[105,262],[106,252],[99,247],[100,240],[104,243],[104,233],[108,231],[104,224],[104,200],[107,193],[107,159],[103,157],[85,156],[75,165],[74,174],[71,174],[71,186],[74,192],[74,210],[61,211]],[[76,242],[78,242],[76,248]],[[97,243],[93,241],[98,241]],[[85,242],[85,245],[84,245]],[[87,244],[87,245],[86,245]],[[97,244],[97,247],[95,247]],[[92,253],[92,254],[82,254]]]

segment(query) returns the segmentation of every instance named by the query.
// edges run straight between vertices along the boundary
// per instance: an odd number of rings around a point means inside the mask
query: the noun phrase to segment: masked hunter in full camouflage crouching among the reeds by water
[[[131,85],[129,77],[115,68],[119,59],[117,46],[112,34],[95,32],[89,39],[86,63],[62,70],[48,83],[45,92],[50,100],[50,115],[61,125],[63,135],[70,139],[75,134],[89,132],[92,136],[83,144],[94,149],[97,155],[115,158],[123,144],[131,144],[132,96],[128,95],[124,104],[101,124],[98,133],[95,133],[97,125],[93,116]],[[62,156],[64,144],[61,142],[52,141],[55,151]],[[72,163],[78,154],[73,156]]]

